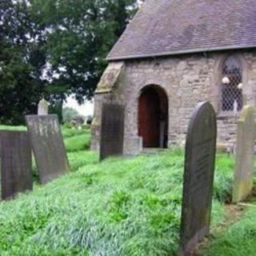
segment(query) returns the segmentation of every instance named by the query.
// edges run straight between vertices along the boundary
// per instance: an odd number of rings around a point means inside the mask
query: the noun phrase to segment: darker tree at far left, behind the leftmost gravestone
[[[0,22],[0,122],[18,124],[25,114],[36,111],[44,87],[40,30],[31,21],[26,2],[0,2]]]

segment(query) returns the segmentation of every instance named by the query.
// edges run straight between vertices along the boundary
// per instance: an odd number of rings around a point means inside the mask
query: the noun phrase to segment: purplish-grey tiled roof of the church
[[[107,59],[256,46],[256,0],[146,0]]]

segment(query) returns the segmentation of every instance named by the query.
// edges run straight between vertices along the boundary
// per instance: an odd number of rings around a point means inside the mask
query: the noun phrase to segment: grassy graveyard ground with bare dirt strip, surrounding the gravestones
[[[70,174],[40,186],[34,168],[34,192],[0,202],[0,255],[175,255],[182,150],[99,163],[88,150],[88,129],[64,128],[62,134]],[[212,234],[199,255],[255,255],[253,198],[242,211],[225,205],[233,168],[233,157],[218,155]]]

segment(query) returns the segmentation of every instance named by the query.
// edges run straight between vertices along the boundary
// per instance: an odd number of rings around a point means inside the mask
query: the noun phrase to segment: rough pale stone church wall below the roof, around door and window
[[[181,144],[194,107],[198,102],[210,101],[218,113],[218,142],[233,144],[236,134],[237,116],[223,114],[218,110],[221,85],[220,66],[225,53],[182,55],[170,58],[130,60],[110,63],[106,71],[117,74],[103,75],[110,78],[111,88],[95,95],[92,148],[98,149],[102,102],[118,102],[126,106],[125,148],[126,154],[136,154],[141,150],[138,138],[138,98],[144,86],[161,86],[169,98],[169,146]],[[244,104],[256,105],[256,51],[235,52],[243,66]],[[113,78],[114,77],[114,78]],[[113,82],[114,80],[114,82]]]

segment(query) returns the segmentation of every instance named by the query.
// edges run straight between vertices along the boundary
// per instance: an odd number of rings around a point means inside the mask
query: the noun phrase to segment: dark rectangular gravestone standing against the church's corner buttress
[[[124,106],[102,105],[100,160],[123,154]]]

